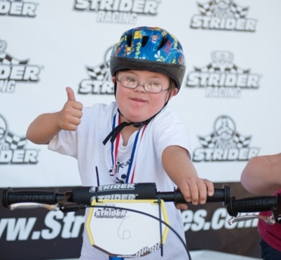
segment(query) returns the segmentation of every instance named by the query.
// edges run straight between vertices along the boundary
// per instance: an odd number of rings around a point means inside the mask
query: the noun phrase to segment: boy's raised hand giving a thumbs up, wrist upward
[[[82,103],[76,101],[74,91],[67,86],[67,102],[58,115],[58,124],[61,129],[75,131],[81,123]]]

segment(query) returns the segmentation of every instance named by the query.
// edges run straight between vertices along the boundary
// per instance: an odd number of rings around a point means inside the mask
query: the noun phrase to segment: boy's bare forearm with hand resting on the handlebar
[[[162,155],[165,171],[177,185],[187,202],[204,204],[207,195],[214,194],[214,185],[207,179],[199,178],[193,163],[189,159],[188,152],[179,146],[167,147]],[[181,204],[178,209],[187,209],[187,205]]]

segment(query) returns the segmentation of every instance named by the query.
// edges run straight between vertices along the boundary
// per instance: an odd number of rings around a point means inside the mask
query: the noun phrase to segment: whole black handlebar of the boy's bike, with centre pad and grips
[[[216,188],[207,202],[226,202],[229,197],[229,186]],[[164,200],[165,202],[186,203],[179,190],[157,192],[155,183],[122,183],[97,187],[77,187],[66,193],[55,193],[42,190],[4,190],[2,204],[34,202],[39,204],[84,204],[90,206],[92,200]]]

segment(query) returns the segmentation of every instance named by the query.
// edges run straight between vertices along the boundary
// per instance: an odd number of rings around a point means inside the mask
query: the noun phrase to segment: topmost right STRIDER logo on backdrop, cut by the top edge
[[[256,32],[256,19],[246,17],[249,7],[232,0],[211,0],[197,5],[200,14],[193,15],[191,29]]]

